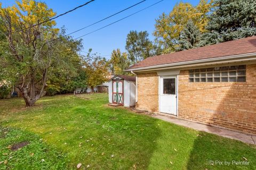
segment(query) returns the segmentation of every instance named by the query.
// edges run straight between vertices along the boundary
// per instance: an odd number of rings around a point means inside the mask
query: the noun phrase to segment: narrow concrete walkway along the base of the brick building
[[[178,118],[175,118],[175,117],[169,116],[169,115],[159,115],[159,114],[157,114],[157,115],[152,115],[152,117],[159,118],[159,119],[161,119],[163,121],[166,121],[166,122],[171,122],[171,123],[174,123],[174,124],[185,126],[187,128],[196,129],[198,131],[209,132],[209,133],[220,135],[221,137],[236,139],[236,140],[239,140],[239,141],[242,141],[242,142],[245,142],[245,143],[250,143],[250,144],[256,145],[256,136],[254,136],[254,135],[229,131],[229,130],[225,130],[225,129],[221,129],[221,128],[215,128],[213,126],[204,125],[204,124],[201,124],[201,123],[194,123],[194,122],[184,121],[184,120],[180,120]]]

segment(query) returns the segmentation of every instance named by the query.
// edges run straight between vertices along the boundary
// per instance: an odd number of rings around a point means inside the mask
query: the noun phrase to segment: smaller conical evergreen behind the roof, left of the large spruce
[[[199,46],[201,33],[193,21],[188,21],[185,28],[180,33],[179,47],[177,50],[186,50]]]

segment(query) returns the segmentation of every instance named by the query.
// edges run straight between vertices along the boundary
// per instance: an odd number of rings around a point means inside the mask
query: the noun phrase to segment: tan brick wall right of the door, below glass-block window
[[[246,82],[188,82],[179,75],[179,118],[256,134],[256,64],[246,65]]]

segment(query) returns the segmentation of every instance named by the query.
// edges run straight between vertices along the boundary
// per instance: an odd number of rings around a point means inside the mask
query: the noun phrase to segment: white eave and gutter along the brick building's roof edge
[[[125,71],[139,72],[139,71],[178,69],[178,68],[188,67],[188,66],[202,66],[205,64],[224,64],[224,63],[231,63],[231,62],[246,62],[251,60],[256,60],[256,53],[247,53],[247,54],[231,55],[231,56],[224,56],[224,57],[206,58],[202,60],[193,60],[193,61],[186,61],[186,62],[138,67],[134,69],[126,69]]]

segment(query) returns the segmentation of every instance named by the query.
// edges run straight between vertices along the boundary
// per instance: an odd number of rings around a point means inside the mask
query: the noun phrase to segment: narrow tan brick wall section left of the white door
[[[145,73],[137,75],[138,102],[136,108],[158,112],[158,75]]]

